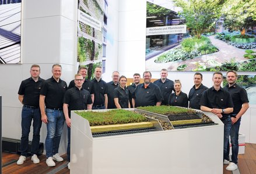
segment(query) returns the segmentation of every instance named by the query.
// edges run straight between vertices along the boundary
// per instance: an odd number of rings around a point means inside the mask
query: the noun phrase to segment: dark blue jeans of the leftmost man
[[[29,147],[29,132],[31,121],[33,119],[33,139],[31,144],[31,154],[37,154],[40,142],[40,129],[42,125],[41,113],[39,108],[22,108],[22,137],[20,141],[21,155],[27,155],[27,148]]]

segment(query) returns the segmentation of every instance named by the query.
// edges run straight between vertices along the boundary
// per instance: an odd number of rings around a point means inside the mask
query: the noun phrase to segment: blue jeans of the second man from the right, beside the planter
[[[230,135],[230,129],[232,126],[232,121],[230,118],[230,115],[225,116],[225,119],[222,119],[222,122],[224,124],[224,147],[223,147],[223,161],[228,160],[229,161],[229,135]]]

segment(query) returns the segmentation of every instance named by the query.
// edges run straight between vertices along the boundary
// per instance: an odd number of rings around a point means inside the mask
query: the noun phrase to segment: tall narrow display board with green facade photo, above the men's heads
[[[78,1],[78,66],[88,68],[93,78],[94,68],[102,65],[103,1]]]

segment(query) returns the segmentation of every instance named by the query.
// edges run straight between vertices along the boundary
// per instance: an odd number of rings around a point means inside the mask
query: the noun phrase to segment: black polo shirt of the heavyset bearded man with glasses
[[[157,102],[163,100],[160,88],[152,83],[147,88],[145,88],[144,83],[139,84],[132,97],[135,99],[135,107],[155,106]]]

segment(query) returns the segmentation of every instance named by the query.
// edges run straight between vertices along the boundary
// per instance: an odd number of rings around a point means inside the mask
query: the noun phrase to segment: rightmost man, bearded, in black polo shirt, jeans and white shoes
[[[237,155],[239,153],[239,128],[241,117],[246,113],[249,108],[249,100],[247,92],[244,88],[236,84],[237,73],[236,71],[230,70],[227,71],[227,84],[224,89],[228,90],[234,104],[234,110],[231,115],[232,127],[230,130],[230,140],[232,144],[232,161],[225,161],[225,164],[229,163],[227,166],[228,171],[234,171],[237,169]],[[227,151],[229,153],[229,144],[227,146]]]

